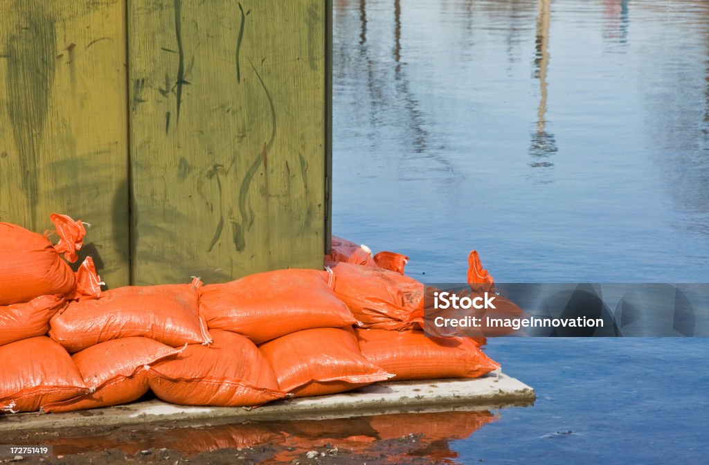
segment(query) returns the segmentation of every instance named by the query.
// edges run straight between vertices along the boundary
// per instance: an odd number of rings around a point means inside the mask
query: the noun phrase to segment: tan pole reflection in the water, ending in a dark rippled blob
[[[557,152],[554,135],[547,133],[547,68],[549,67],[549,23],[552,16],[552,1],[537,0],[537,37],[535,40],[535,78],[539,79],[540,100],[537,106],[537,130],[532,133],[530,155],[532,168],[550,169],[554,163],[549,156]],[[537,182],[551,182],[547,177],[537,178]]]

